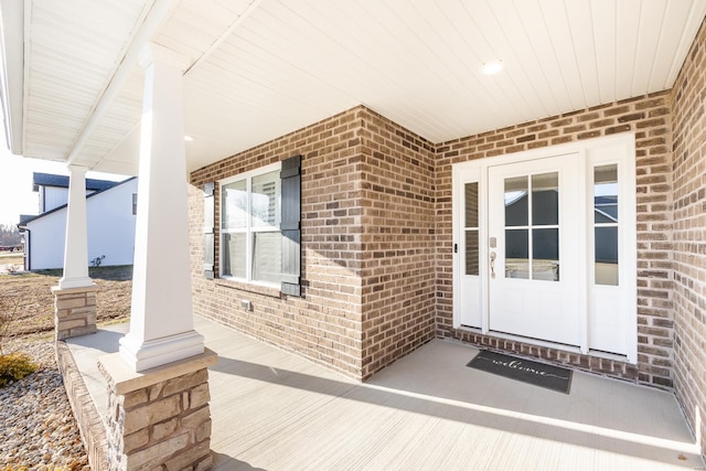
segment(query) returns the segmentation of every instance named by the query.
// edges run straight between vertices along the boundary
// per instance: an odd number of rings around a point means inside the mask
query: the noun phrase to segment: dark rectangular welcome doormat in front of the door
[[[466,366],[569,394],[570,370],[482,350]]]

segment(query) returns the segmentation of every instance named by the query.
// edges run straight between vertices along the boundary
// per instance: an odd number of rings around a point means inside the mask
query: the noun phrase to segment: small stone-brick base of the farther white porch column
[[[95,285],[67,289],[52,287],[56,340],[96,333],[96,291]]]

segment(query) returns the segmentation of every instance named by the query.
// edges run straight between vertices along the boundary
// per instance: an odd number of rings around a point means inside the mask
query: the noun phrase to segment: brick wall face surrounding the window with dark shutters
[[[354,377],[362,372],[361,109],[352,109],[192,173],[194,311]],[[205,182],[301,154],[302,298],[203,276]],[[217,191],[217,185],[216,185]],[[220,195],[215,196],[216,254]],[[215,271],[218,274],[216,256]],[[249,300],[252,311],[240,308]]]

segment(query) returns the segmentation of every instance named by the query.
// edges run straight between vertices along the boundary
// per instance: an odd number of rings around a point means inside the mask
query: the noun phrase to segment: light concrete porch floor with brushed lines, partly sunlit
[[[574,373],[569,395],[471,370],[435,340],[361,384],[195,318],[210,371],[215,470],[705,469],[670,393]],[[67,341],[98,411],[96,357],[127,324]]]

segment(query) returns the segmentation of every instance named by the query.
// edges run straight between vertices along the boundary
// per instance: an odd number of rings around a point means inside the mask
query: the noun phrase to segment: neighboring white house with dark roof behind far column
[[[34,174],[38,216],[22,216],[26,270],[62,268],[66,237],[68,178]],[[124,182],[86,180],[88,260],[92,265],[131,265],[135,253],[137,178]],[[62,203],[63,200],[63,203]]]

